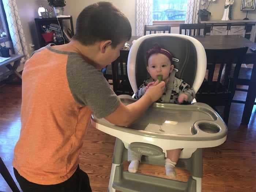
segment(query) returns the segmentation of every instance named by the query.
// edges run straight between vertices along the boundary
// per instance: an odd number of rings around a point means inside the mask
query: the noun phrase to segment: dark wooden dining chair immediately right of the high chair
[[[207,78],[196,94],[197,102],[207,103],[213,109],[224,106],[223,120],[228,123],[241,63],[248,47],[236,49],[206,49]],[[236,64],[231,75],[232,64]],[[233,78],[231,78],[233,76]]]

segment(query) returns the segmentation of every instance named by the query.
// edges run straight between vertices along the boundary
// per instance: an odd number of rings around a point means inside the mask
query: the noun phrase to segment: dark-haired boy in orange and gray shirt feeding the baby
[[[126,126],[159,99],[165,83],[125,106],[100,69],[116,60],[131,38],[131,25],[108,2],[86,7],[65,45],[48,45],[26,62],[22,74],[22,128],[14,173],[23,191],[91,191],[79,153],[91,113]]]

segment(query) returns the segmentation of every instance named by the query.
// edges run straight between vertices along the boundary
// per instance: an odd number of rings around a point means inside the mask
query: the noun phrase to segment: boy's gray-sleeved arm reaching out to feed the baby
[[[74,64],[75,63],[75,64]],[[139,101],[125,106],[110,88],[101,71],[86,63],[79,55],[69,57],[67,63],[69,89],[77,103],[88,106],[98,118],[126,126],[139,118],[163,94],[165,83],[150,86]]]

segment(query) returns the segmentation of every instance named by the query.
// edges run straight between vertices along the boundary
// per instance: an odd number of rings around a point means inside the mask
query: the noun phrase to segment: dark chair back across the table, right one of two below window
[[[184,35],[205,35],[205,28],[205,23],[180,24],[180,34],[182,34],[182,30],[184,30]],[[203,30],[202,33],[201,30]]]

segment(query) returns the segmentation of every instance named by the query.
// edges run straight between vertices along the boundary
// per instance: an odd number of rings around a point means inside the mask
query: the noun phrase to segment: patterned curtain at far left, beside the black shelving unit
[[[10,36],[12,39],[12,45],[14,47],[14,53],[24,54],[25,57],[21,60],[21,63],[25,63],[25,61],[29,59],[29,53],[27,51],[27,44],[24,37],[16,0],[3,0],[3,4]]]

